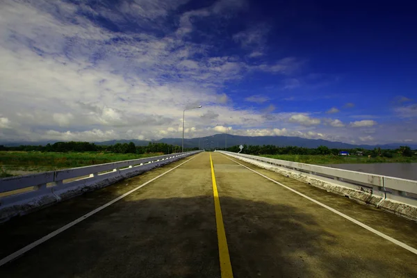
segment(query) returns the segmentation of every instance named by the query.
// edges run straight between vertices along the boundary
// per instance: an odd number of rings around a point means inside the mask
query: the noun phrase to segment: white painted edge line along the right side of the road
[[[222,154],[222,156],[224,156],[224,155]],[[238,163],[237,161],[234,161],[233,159],[228,158],[227,156],[224,156],[224,157],[227,158],[227,159],[229,159],[229,160],[231,160],[231,161],[233,161],[234,163]],[[284,184],[280,183],[279,181],[275,181],[275,179],[271,179],[270,177],[266,177],[264,174],[261,174],[259,172],[256,172],[255,170],[252,170],[250,167],[247,167],[247,166],[245,166],[243,164],[240,164],[240,163],[238,163],[238,164],[240,166],[243,166],[243,167],[251,170],[252,172],[255,172],[256,174],[259,174],[259,176],[262,176],[265,179],[269,179],[270,181],[279,184],[279,186],[282,186],[282,187],[284,187],[284,188],[286,188],[288,190],[291,190],[291,191],[293,191],[293,193],[295,193],[297,195],[300,195],[301,197],[304,197],[306,199],[309,199],[311,202],[314,202],[314,203],[318,204],[319,206],[322,206],[323,208],[327,208],[329,211],[332,211],[333,213],[336,213],[337,215],[340,215],[341,217],[343,217],[343,218],[345,218],[345,219],[347,219],[347,220],[349,220],[351,222],[354,222],[354,224],[357,224],[357,225],[361,226],[363,229],[367,229],[368,231],[373,232],[377,236],[380,236],[382,238],[385,238],[386,240],[391,241],[391,243],[394,243],[394,244],[396,244],[396,245],[398,245],[398,246],[400,246],[400,247],[402,247],[402,248],[404,248],[406,250],[409,250],[409,252],[412,252],[414,254],[417,254],[417,250],[415,248],[413,248],[413,247],[411,247],[411,246],[409,246],[409,245],[407,245],[405,243],[402,243],[401,241],[396,240],[395,238],[391,238],[391,236],[387,236],[386,234],[383,234],[380,231],[377,231],[377,230],[369,227],[368,225],[363,224],[362,222],[359,222],[358,220],[356,220],[354,218],[351,218],[350,216],[347,216],[344,213],[341,213],[340,211],[336,211],[336,209],[331,208],[330,206],[327,206],[325,204],[322,204],[322,203],[318,202],[316,199],[313,199],[313,198],[311,198],[311,197],[309,197],[307,195],[304,195],[304,194],[298,192],[297,190],[294,190],[293,188],[290,188],[288,186],[285,186]]]

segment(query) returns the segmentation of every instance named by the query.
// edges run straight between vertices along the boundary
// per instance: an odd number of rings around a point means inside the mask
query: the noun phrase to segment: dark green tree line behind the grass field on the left
[[[197,150],[198,147],[186,148],[184,151]],[[116,154],[172,154],[181,152],[181,147],[166,143],[149,142],[147,146],[136,146],[134,142],[116,143],[115,145],[96,145],[90,142],[56,142],[47,145],[20,145],[18,147],[6,147],[0,145],[0,151],[14,152],[113,152]]]

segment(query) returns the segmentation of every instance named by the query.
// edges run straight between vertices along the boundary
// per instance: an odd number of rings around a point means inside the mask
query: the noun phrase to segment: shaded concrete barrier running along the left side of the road
[[[202,151],[167,154],[0,179],[0,222],[142,174]]]

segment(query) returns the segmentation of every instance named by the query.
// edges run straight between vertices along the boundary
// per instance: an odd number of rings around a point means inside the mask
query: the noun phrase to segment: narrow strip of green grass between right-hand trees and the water
[[[417,162],[416,156],[404,157],[394,156],[386,157],[370,157],[367,156],[334,156],[334,155],[306,155],[306,154],[277,154],[277,155],[261,155],[264,157],[281,159],[284,161],[294,161],[309,164],[341,164],[341,163],[410,163]]]

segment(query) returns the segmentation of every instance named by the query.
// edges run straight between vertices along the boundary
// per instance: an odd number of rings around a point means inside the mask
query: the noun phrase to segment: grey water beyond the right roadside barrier
[[[327,164],[323,166],[417,181],[417,163]]]

